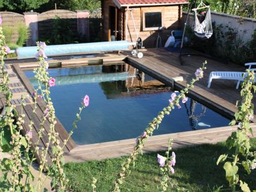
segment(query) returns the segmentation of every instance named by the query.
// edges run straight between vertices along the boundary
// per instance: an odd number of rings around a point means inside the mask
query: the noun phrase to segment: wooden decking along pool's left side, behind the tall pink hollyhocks
[[[47,134],[50,132],[49,130],[49,120],[46,120],[44,124],[42,124],[41,117],[44,115],[44,109],[45,109],[45,102],[42,99],[38,99],[38,102],[36,104],[36,109],[34,106],[32,94],[35,92],[33,86],[29,82],[28,78],[25,76],[24,72],[20,69],[19,65],[6,65],[6,72],[8,72],[8,76],[10,77],[10,91],[13,93],[13,100],[11,101],[12,104],[15,104],[17,111],[19,114],[23,113],[25,115],[24,117],[24,124],[22,127],[24,128],[22,130],[22,134],[26,134],[27,131],[29,131],[29,124],[31,121],[33,121],[32,125],[32,147],[36,147],[36,143],[38,143],[38,147],[45,148],[47,146],[47,143],[49,142],[49,137]],[[21,96],[25,95],[26,99],[26,106],[22,108],[21,106]],[[3,93],[0,93],[0,108],[4,106],[4,95]],[[33,111],[36,111],[36,114],[33,113]],[[68,132],[65,130],[63,125],[60,123],[58,119],[57,123],[55,125],[55,131],[58,132],[58,140],[60,141],[60,145],[63,146],[63,141],[67,140],[68,138]],[[40,126],[44,126],[45,131],[42,134],[42,138],[39,139],[38,137],[38,131],[40,130]],[[76,147],[76,143],[70,138],[68,140],[67,145],[63,148],[65,153],[68,153],[72,148]],[[49,150],[51,151],[52,144],[49,147]],[[42,154],[35,154],[36,160],[38,163],[42,160]],[[47,154],[47,163],[51,164],[51,157],[49,156],[49,153]]]

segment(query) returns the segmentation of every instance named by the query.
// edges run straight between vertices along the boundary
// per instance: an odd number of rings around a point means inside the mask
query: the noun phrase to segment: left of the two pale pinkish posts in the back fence
[[[26,26],[30,30],[30,38],[27,40],[27,46],[36,45],[38,41],[38,13],[36,12],[26,12],[24,13],[24,19]]]

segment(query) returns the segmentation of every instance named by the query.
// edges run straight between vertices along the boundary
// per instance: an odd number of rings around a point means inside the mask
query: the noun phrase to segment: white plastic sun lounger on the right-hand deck
[[[256,71],[256,68],[253,68],[253,65],[255,65],[256,67],[256,63],[245,63],[244,65],[248,67],[249,70]],[[240,82],[244,81],[244,77],[246,77],[246,74],[244,74],[244,72],[214,71],[211,72],[209,76],[207,88],[210,88],[212,79],[229,79],[237,81],[236,89],[238,89]]]

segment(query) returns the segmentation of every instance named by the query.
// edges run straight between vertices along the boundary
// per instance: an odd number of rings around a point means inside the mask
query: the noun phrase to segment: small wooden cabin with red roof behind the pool
[[[138,37],[144,47],[156,47],[157,36],[162,44],[172,30],[183,27],[182,5],[188,0],[101,0],[104,41],[128,40]]]

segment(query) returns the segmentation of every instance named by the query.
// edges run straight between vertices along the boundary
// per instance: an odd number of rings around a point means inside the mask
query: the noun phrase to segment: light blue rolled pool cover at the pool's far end
[[[83,52],[106,52],[106,51],[127,51],[129,42],[97,42],[87,44],[66,44],[66,45],[47,45],[45,48],[46,56],[57,56],[61,54],[75,54]],[[18,60],[35,58],[37,52],[36,46],[19,47],[16,49]]]

